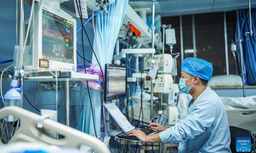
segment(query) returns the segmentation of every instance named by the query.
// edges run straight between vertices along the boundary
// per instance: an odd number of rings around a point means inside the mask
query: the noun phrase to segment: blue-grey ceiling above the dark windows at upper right
[[[129,0],[129,4],[133,9],[151,8],[152,11],[152,3],[149,0]],[[251,0],[251,8],[255,7],[256,0]],[[156,0],[155,14],[166,17],[248,8],[248,0]]]

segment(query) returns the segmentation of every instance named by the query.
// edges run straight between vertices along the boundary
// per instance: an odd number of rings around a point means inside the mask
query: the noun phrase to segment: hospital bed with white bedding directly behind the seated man
[[[178,94],[178,111],[184,119],[190,94]],[[220,97],[227,112],[229,126],[244,128],[256,134],[256,95],[249,97]]]

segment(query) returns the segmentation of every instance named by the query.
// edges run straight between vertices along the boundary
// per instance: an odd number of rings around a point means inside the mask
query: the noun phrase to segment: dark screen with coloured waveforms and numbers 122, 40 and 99
[[[74,23],[42,9],[42,58],[74,64]]]

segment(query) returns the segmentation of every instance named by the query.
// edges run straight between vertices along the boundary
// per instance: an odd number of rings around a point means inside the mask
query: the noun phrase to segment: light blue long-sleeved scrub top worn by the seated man
[[[210,87],[189,101],[184,120],[159,136],[163,142],[180,142],[179,153],[231,153],[226,110]]]

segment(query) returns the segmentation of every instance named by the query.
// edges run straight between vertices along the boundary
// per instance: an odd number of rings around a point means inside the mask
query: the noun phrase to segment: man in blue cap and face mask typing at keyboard
[[[181,66],[180,90],[192,95],[186,117],[166,128],[158,123],[148,127],[159,133],[145,135],[140,130],[127,134],[143,142],[180,143],[179,153],[231,153],[230,131],[225,107],[220,97],[208,87],[212,63],[198,58],[186,58]]]

